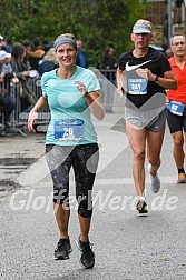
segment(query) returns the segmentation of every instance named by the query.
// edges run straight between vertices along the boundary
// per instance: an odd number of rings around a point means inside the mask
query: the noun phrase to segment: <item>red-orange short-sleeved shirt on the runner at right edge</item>
[[[172,57],[168,59],[172,71],[175,74],[177,80],[177,90],[168,90],[167,97],[170,100],[183,102],[186,104],[186,62],[184,64],[184,69],[182,70],[175,62],[175,58]]]

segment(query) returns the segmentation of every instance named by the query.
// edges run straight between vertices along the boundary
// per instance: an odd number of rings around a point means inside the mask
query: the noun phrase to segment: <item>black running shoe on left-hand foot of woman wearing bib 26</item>
[[[56,260],[67,260],[72,252],[69,238],[59,239],[57,248],[55,249]]]

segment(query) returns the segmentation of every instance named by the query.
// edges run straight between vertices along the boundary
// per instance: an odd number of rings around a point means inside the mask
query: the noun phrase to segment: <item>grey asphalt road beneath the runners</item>
[[[135,210],[131,151],[121,114],[96,122],[100,139],[99,172],[94,189],[90,240],[96,266],[79,264],[76,203],[71,203],[69,260],[55,261],[58,230],[52,184],[43,159],[42,133],[0,138],[0,279],[2,280],[185,280],[186,184],[176,184],[172,138],[166,130],[161,189],[154,194],[146,178],[149,213]],[[74,198],[74,180],[71,197]]]

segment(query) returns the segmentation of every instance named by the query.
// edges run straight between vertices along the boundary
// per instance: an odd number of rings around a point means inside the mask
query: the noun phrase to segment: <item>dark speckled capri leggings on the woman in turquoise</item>
[[[90,217],[91,191],[99,160],[98,144],[46,144],[46,159],[53,182],[53,202],[69,203],[69,172],[72,167],[78,213],[85,218]]]

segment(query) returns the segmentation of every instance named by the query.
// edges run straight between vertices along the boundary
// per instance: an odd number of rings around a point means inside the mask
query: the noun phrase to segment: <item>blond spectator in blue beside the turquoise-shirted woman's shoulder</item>
[[[55,48],[50,48],[45,54],[43,60],[40,61],[38,72],[42,76],[45,72],[51,71],[58,66]]]

